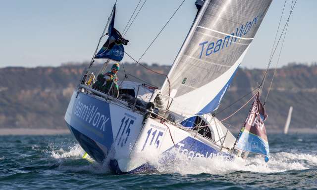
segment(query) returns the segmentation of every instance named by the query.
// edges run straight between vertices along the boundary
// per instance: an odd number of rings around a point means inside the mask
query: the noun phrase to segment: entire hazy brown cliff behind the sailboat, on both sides
[[[64,114],[73,89],[85,66],[61,66],[38,68],[2,68],[0,69],[0,128],[64,128]],[[152,70],[168,73],[169,66],[151,66]],[[94,68],[98,71],[100,66]],[[119,78],[124,78],[123,67]],[[153,85],[160,86],[164,77],[138,67],[136,64],[125,64],[126,73],[141,78]],[[273,70],[268,72],[264,83],[262,101],[270,83]],[[233,106],[222,109],[241,98],[261,82],[264,70],[238,69],[220,108],[216,112],[219,119],[239,109],[248,95]],[[128,75],[129,80],[139,81]],[[276,71],[268,100],[265,103],[269,115],[267,128],[279,129],[284,123],[290,106],[294,107],[291,127],[315,127],[317,124],[317,66],[293,65]],[[240,127],[248,114],[250,104],[226,120]],[[219,114],[217,114],[219,113]]]

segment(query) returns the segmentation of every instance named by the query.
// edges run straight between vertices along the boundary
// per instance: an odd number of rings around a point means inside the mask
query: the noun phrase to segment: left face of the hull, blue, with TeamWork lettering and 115
[[[74,92],[65,121],[80,146],[96,161],[128,159],[143,116],[102,97]],[[111,150],[111,151],[110,151]]]

